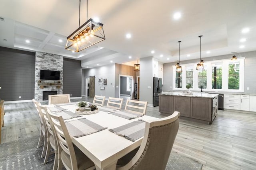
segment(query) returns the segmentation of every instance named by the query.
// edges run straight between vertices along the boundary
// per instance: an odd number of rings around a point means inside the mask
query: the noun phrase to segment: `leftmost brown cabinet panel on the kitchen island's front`
[[[159,111],[161,113],[173,113],[173,96],[159,95]]]

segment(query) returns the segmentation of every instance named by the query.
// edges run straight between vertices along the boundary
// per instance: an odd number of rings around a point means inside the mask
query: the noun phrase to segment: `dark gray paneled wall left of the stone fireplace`
[[[5,101],[31,100],[34,98],[34,81],[35,53],[0,47],[0,98]]]

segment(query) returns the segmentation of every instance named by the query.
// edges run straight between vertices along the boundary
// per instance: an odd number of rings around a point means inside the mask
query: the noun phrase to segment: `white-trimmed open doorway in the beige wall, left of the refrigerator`
[[[119,98],[132,99],[133,76],[119,74]]]

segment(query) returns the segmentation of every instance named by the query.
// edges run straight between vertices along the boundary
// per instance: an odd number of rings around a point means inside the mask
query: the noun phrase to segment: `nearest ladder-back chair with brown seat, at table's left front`
[[[62,116],[51,113],[49,109],[47,111],[58,140],[58,170],[62,169],[62,166],[67,170],[93,170],[95,168],[94,163],[80,149],[73,145]]]

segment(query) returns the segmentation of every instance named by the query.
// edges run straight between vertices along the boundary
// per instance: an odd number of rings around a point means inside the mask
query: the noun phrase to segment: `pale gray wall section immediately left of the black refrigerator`
[[[153,105],[153,57],[140,59],[140,101]]]

